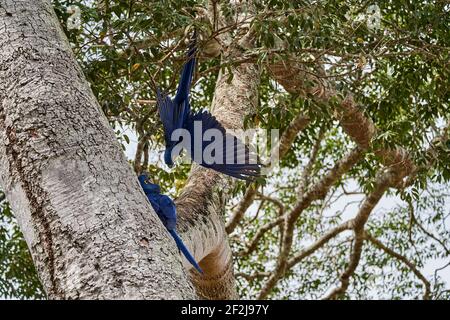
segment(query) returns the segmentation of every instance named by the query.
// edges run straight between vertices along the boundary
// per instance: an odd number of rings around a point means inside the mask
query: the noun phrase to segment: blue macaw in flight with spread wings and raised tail
[[[188,59],[181,72],[175,97],[171,99],[157,89],[157,103],[161,122],[164,127],[164,140],[166,144],[164,162],[169,167],[172,167],[174,165],[174,158],[177,156],[176,154],[173,155],[174,148],[181,146],[187,151],[192,160],[203,167],[238,179],[255,180],[261,175],[261,164],[256,161],[256,156],[250,152],[249,148],[241,140],[227,133],[225,128],[211,113],[207,111],[193,113],[191,111],[189,91],[195,69],[195,54],[194,34],[194,40],[189,46]],[[196,130],[196,128],[200,128],[199,124],[201,124],[201,130]],[[177,129],[187,130],[190,139],[179,138],[176,141],[172,141],[172,133]],[[209,129],[215,129],[215,133],[220,133],[219,137],[210,139],[210,141],[204,141],[203,137],[205,132]],[[203,156],[198,157],[198,151],[203,155],[203,151],[208,146],[211,147],[212,143],[216,142],[219,142],[219,147],[211,148],[214,149],[211,152],[212,157],[215,159],[214,161],[205,161]],[[252,162],[250,162],[250,159],[252,159]]]

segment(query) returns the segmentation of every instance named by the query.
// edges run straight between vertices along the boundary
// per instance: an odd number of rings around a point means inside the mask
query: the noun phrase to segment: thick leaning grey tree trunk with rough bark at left
[[[194,298],[50,1],[0,0],[0,183],[50,298]]]

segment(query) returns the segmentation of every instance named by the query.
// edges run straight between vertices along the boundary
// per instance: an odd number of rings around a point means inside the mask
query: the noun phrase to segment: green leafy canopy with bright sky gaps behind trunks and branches
[[[160,159],[163,136],[154,88],[158,83],[169,92],[175,89],[184,63],[186,39],[194,26],[201,35],[200,53],[213,36],[219,35],[204,18],[199,18],[202,12],[199,7],[206,8],[206,1],[54,0],[53,3],[86,78],[124,149],[134,142],[151,150],[144,169],[164,191],[176,196],[185,183],[189,166],[176,166],[169,171]],[[233,6],[222,1],[220,5],[225,18],[231,21],[233,39],[239,39],[244,25],[233,24],[242,12],[251,18],[248,26],[257,35],[255,48],[245,52],[245,58],[261,65],[262,80],[258,111],[246,119],[246,124],[279,128],[283,132],[299,113],[311,118],[310,125],[297,136],[266,185],[258,190],[277,199],[286,211],[290,210],[300,197],[301,172],[313,145],[319,140],[309,185],[324,176],[355,145],[333,118],[329,105],[287,93],[273,80],[267,64],[294,57],[306,74],[330,81],[342,96],[351,93],[378,128],[372,149],[364,159],[331,188],[324,200],[314,202],[300,216],[293,253],[354,216],[363,193],[372,190],[374,177],[383,169],[373,150],[379,146],[403,147],[417,165],[423,165],[430,159],[427,148],[437,143],[432,155],[434,165],[421,169],[412,187],[390,191],[384,202],[390,204],[389,208],[378,210],[369,220],[367,230],[419,269],[433,269],[426,274],[432,298],[448,299],[449,284],[441,276],[445,268],[438,269],[449,259],[444,247],[450,246],[449,203],[445,193],[450,180],[450,142],[436,142],[433,138],[442,131],[450,114],[449,5],[430,0],[373,3],[255,0],[254,4],[255,14],[246,11],[245,2]],[[379,21],[374,4],[379,8]],[[70,5],[81,8],[80,29],[67,30]],[[210,106],[218,72],[238,63],[227,61],[226,57],[221,60],[200,55],[192,97],[194,109]],[[325,76],[319,65],[325,66]],[[136,137],[129,135],[130,131]],[[242,198],[244,190],[243,184],[236,188],[228,211]],[[253,253],[241,254],[259,228],[279,216],[277,205],[262,199],[249,211],[232,234],[231,243],[236,254],[239,291],[242,296],[253,298],[264,284],[264,274],[277,261],[282,231],[273,228],[258,242]],[[31,260],[6,204],[0,219],[3,226],[0,294],[42,298]],[[322,297],[338,282],[348,263],[351,244],[352,234],[343,232],[288,270],[270,297]],[[343,298],[420,297],[422,284],[404,264],[370,243],[365,243],[363,250],[360,266]]]

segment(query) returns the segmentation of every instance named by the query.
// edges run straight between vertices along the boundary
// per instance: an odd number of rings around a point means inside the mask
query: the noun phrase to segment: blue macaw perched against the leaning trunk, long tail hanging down
[[[159,219],[161,219],[167,231],[169,231],[170,235],[175,240],[178,249],[183,253],[186,259],[198,272],[203,273],[202,269],[200,269],[200,266],[197,264],[188,248],[186,248],[186,246],[184,245],[183,240],[181,240],[181,238],[177,234],[177,209],[175,203],[168,196],[161,194],[161,188],[159,187],[159,185],[150,183],[148,181],[147,175],[142,174],[138,177],[138,179],[139,183],[142,186],[142,189],[144,189],[144,193],[147,196],[147,199],[150,201],[150,204],[152,205]]]

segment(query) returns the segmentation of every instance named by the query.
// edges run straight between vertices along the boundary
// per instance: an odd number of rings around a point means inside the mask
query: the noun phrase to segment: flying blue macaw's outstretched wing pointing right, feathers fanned
[[[242,180],[253,181],[261,176],[262,166],[256,154],[240,139],[227,133],[209,112],[191,113],[186,129],[191,134],[191,145],[187,151],[201,166]],[[207,133],[210,129],[213,131]],[[201,137],[196,137],[200,132]],[[202,139],[205,133],[211,136],[210,141]]]

